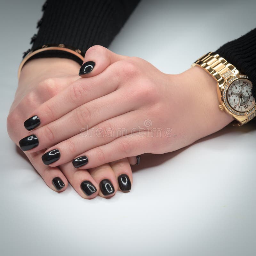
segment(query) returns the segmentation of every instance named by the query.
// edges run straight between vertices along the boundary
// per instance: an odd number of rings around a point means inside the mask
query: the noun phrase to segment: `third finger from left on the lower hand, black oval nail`
[[[99,196],[111,197],[116,194],[118,188],[116,176],[109,164],[92,168],[89,172],[92,178],[99,184]]]

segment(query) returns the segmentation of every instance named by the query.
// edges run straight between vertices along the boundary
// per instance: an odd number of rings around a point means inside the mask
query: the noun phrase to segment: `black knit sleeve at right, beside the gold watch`
[[[252,95],[256,99],[256,28],[221,46],[216,53],[226,59],[252,81]]]

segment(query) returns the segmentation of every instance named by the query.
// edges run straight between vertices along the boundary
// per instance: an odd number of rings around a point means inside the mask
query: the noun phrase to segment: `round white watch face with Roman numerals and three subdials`
[[[227,90],[227,100],[237,112],[247,112],[253,108],[255,99],[252,96],[251,81],[239,78],[231,83]]]

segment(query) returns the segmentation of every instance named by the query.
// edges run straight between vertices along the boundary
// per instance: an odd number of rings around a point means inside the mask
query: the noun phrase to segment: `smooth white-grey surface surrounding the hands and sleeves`
[[[1,1],[0,255],[255,255],[253,124],[142,156],[131,192],[110,200],[52,191],[16,152],[5,120],[42,2]],[[141,2],[110,49],[179,73],[256,27],[254,1],[172,2]]]

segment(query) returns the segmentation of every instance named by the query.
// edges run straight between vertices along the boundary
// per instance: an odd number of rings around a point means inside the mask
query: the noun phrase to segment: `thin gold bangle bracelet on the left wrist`
[[[25,56],[25,58],[21,61],[19,69],[18,69],[18,79],[20,78],[20,72],[21,69],[23,68],[23,66],[25,65],[25,63],[32,57],[35,56],[37,53],[39,52],[44,52],[44,51],[64,51],[64,52],[69,52],[73,55],[75,55],[76,57],[78,57],[80,60],[84,61],[84,57],[83,57],[83,53],[79,50],[79,49],[74,49],[71,47],[65,46],[64,44],[59,44],[59,45],[43,45],[41,48],[36,49],[34,51],[30,51],[28,52],[28,54]]]

